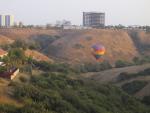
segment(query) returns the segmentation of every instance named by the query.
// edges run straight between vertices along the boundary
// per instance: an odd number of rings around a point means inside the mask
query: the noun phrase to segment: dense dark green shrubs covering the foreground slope
[[[146,113],[149,108],[118,87],[80,80],[64,73],[32,76],[28,84],[11,85],[23,106],[0,105],[4,113]]]

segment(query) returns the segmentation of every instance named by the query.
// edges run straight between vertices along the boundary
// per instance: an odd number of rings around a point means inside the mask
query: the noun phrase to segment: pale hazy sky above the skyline
[[[70,20],[82,24],[83,11],[106,13],[106,25],[150,25],[150,0],[0,0],[0,14],[24,24]]]

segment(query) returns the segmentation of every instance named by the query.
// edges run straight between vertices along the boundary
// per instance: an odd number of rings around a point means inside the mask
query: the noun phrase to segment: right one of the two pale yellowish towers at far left
[[[5,26],[11,27],[14,25],[14,16],[13,15],[5,15]]]

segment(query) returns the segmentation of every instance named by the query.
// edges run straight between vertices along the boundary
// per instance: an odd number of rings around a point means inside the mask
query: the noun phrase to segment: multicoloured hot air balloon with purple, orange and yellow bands
[[[105,52],[105,47],[102,44],[95,44],[92,46],[92,54],[97,61],[103,61],[102,56]]]

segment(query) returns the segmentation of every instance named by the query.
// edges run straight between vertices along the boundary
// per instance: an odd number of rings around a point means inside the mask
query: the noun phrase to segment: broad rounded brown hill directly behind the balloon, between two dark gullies
[[[49,54],[70,60],[73,63],[96,62],[91,55],[91,46],[101,43],[106,48],[104,58],[110,62],[118,59],[131,60],[138,56],[136,47],[125,31],[114,30],[71,30],[63,31],[47,50]],[[56,52],[57,51],[57,52]]]

